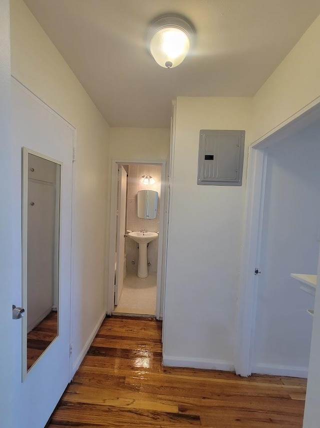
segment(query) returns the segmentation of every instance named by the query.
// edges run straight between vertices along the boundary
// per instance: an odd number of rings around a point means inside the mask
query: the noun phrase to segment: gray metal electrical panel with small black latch
[[[197,184],[241,186],[245,131],[201,129]]]

